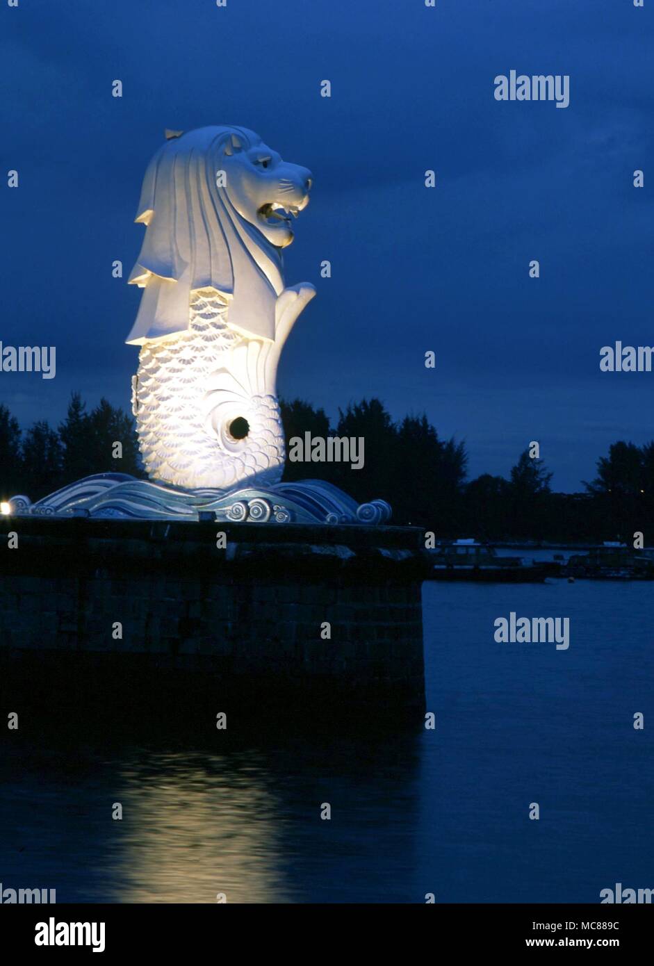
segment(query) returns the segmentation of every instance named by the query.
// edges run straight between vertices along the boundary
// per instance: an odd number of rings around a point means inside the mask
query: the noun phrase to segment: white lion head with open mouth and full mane
[[[281,250],[293,241],[310,187],[310,171],[247,128],[198,128],[167,140],[148,166],[136,213],[146,235],[129,283],[145,291],[128,343],[185,331],[190,293],[205,288],[228,298],[231,327],[273,340]]]

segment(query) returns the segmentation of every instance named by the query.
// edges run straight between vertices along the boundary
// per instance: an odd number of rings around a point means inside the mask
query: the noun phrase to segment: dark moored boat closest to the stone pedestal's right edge
[[[434,550],[432,580],[480,583],[542,583],[544,564],[526,564],[520,556],[498,556],[493,547],[473,539],[442,540]]]

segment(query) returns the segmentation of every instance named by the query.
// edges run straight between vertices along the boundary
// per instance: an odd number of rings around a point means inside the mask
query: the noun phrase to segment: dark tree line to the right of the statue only
[[[365,440],[363,469],[287,463],[284,478],[327,479],[360,502],[382,497],[396,524],[492,541],[631,542],[642,532],[654,545],[654,441],[612,443],[583,492],[564,494],[552,491],[552,472],[528,447],[508,478],[482,473],[469,480],[462,441],[441,439],[424,414],[395,422],[378,399],[339,410],[333,427],[322,409],[300,400],[281,408],[287,441],[307,430]]]

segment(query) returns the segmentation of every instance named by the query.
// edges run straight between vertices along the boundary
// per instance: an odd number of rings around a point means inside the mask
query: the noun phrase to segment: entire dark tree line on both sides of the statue
[[[619,440],[597,460],[596,475],[576,494],[554,493],[552,473],[529,450],[518,454],[507,478],[482,473],[468,479],[463,441],[441,439],[425,414],[393,420],[379,399],[363,399],[338,411],[296,399],[281,401],[289,440],[362,437],[361,469],[344,463],[292,463],[284,480],[324,479],[357,502],[375,497],[393,508],[393,523],[433,530],[439,537],[486,540],[595,542],[633,540],[654,544],[654,440],[643,446]],[[115,443],[122,457],[114,458]],[[101,399],[87,412],[73,393],[66,418],[55,428],[39,420],[24,433],[0,405],[0,493],[39,499],[84,476],[125,472],[145,476],[134,421]]]

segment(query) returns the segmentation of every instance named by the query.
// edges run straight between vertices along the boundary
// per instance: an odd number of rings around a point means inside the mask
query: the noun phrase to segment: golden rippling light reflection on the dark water
[[[278,815],[256,754],[149,754],[124,765],[113,867],[122,902],[283,902]]]

